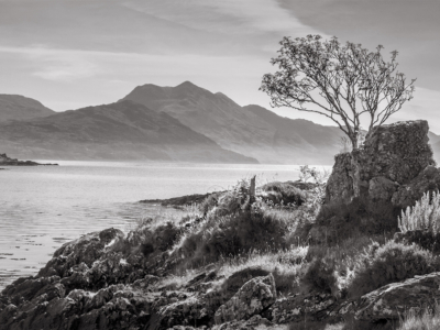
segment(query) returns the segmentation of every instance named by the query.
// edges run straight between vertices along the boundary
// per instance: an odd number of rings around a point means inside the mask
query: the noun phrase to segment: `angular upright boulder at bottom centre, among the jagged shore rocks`
[[[216,311],[216,324],[246,320],[262,312],[276,300],[275,279],[272,274],[246,282],[239,292]]]

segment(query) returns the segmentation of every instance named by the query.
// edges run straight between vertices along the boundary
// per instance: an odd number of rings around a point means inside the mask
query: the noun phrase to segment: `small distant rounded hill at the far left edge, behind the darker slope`
[[[0,94],[0,122],[29,120],[54,113],[55,111],[44,107],[37,100],[20,95]]]

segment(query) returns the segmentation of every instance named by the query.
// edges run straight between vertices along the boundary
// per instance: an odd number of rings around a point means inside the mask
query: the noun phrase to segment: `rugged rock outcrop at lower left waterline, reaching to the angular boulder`
[[[216,286],[219,278],[208,265],[184,287],[162,285],[168,254],[155,249],[145,256],[142,233],[107,229],[64,244],[36,276],[1,292],[0,329],[212,327],[216,311],[235,300],[243,322],[224,329],[251,329],[255,322],[248,319],[275,301],[273,276],[258,270]]]

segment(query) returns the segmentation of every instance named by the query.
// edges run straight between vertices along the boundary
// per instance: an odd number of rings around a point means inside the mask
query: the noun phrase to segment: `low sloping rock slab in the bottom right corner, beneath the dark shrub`
[[[440,273],[415,276],[362,296],[355,318],[370,322],[397,320],[409,310],[433,309],[440,299]]]

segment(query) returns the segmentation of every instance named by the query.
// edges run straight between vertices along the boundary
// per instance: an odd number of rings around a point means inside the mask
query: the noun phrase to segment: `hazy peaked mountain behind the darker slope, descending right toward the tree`
[[[165,112],[224,148],[272,164],[332,164],[341,131],[282,118],[258,106],[240,107],[221,92],[186,81],[176,87],[144,85],[122,100]]]

